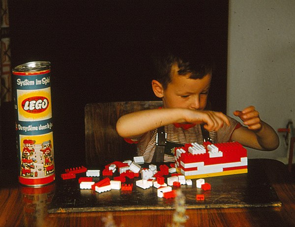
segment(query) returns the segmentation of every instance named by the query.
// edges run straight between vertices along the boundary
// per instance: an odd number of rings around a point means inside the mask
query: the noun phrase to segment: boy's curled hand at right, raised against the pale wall
[[[248,129],[259,131],[262,128],[259,113],[253,106],[247,107],[242,111],[235,111],[234,115],[241,118],[244,125],[246,125]]]

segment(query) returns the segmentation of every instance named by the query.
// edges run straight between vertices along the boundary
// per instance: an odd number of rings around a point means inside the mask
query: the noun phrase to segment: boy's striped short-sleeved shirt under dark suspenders
[[[217,132],[210,131],[209,136],[213,143],[229,142],[231,140],[232,133],[239,124],[234,118],[229,117],[230,126],[223,125]],[[181,127],[175,127],[174,124],[165,125],[165,132],[167,133],[167,141],[175,143],[203,143],[203,135],[201,125],[195,125],[187,130]],[[144,156],[146,163],[152,161],[155,147],[156,147],[156,135],[157,129],[145,133],[141,138],[132,139],[137,143],[137,153],[139,156]],[[164,162],[174,162],[174,156],[164,155]]]

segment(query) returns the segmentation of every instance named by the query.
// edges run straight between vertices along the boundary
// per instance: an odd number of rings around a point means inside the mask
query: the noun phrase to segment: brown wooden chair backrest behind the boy
[[[162,101],[90,103],[85,106],[86,164],[101,167],[136,156],[136,145],[125,142],[116,131],[120,116],[156,109]]]

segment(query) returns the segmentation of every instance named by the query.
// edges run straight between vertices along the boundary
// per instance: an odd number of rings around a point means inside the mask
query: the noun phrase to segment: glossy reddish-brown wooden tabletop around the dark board
[[[294,176],[283,163],[276,160],[258,159],[255,162],[266,172],[271,186],[282,202],[281,207],[187,209],[188,220],[185,226],[295,226]],[[125,227],[165,227],[172,222],[174,210],[48,214],[54,185],[36,197],[19,186],[14,176],[15,173],[11,170],[0,170],[0,227],[104,226],[102,220],[106,217],[112,217],[117,226],[122,224]],[[32,200],[35,202],[31,202]]]

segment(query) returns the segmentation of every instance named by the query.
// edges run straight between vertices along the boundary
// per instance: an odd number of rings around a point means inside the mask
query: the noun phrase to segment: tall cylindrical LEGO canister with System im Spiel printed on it
[[[12,70],[19,182],[39,187],[55,180],[50,62]]]

